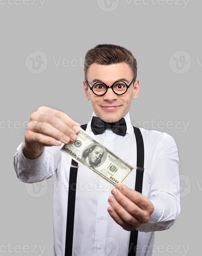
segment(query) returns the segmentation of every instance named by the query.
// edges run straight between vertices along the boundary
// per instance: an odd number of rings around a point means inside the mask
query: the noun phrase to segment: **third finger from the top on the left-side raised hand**
[[[31,121],[27,129],[33,132],[42,133],[44,135],[47,135],[49,137],[52,137],[58,141],[61,141],[65,144],[70,142],[70,138],[67,137],[63,132],[56,129],[54,126],[50,125],[49,123],[45,122],[37,122],[37,121]],[[75,135],[77,136],[77,135]]]

